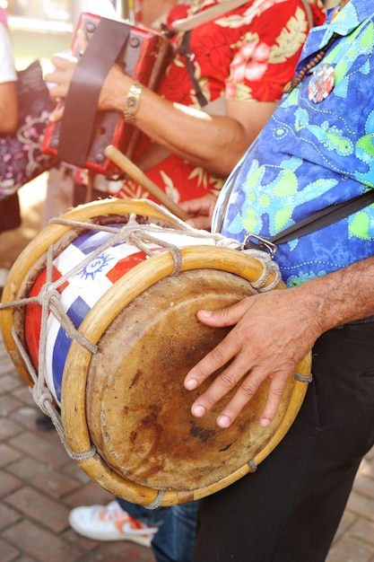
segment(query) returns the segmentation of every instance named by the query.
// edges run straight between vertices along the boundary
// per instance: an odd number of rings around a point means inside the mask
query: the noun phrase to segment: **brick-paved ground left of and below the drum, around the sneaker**
[[[129,542],[85,540],[69,528],[74,505],[112,496],[67,456],[57,433],[40,431],[39,408],[0,345],[1,562],[150,562],[149,549]]]

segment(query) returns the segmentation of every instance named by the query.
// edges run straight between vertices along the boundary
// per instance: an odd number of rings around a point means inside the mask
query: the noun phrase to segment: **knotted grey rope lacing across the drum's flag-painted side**
[[[154,206],[155,209],[158,208],[156,204],[152,204],[151,201],[147,202],[150,206]],[[281,276],[279,273],[279,269],[276,263],[271,259],[270,255],[262,250],[242,250],[239,246],[239,242],[225,238],[222,234],[218,233],[208,233],[206,231],[196,230],[195,228],[189,226],[188,224],[184,223],[183,221],[179,220],[178,217],[171,215],[169,211],[162,209],[162,212],[166,217],[170,216],[170,222],[172,224],[176,224],[176,228],[170,227],[168,225],[168,233],[171,233],[173,236],[179,235],[188,235],[193,238],[198,238],[200,240],[206,239],[207,241],[214,241],[214,244],[219,247],[229,248],[232,250],[240,250],[244,251],[249,256],[257,259],[263,266],[263,271],[258,277],[257,281],[250,282],[250,285],[258,291],[258,292],[265,292],[274,289],[277,285],[279,285]],[[57,408],[54,405],[54,398],[51,392],[48,390],[47,386],[47,378],[46,378],[46,367],[45,367],[45,352],[47,347],[47,331],[48,331],[48,314],[51,313],[57,321],[60,323],[61,327],[65,330],[66,335],[71,338],[72,340],[79,343],[81,346],[88,349],[92,354],[98,352],[98,346],[84,338],[84,336],[74,327],[73,322],[68,317],[67,313],[64,311],[63,307],[60,303],[60,294],[58,292],[58,288],[65,284],[66,281],[70,277],[78,274],[88,266],[91,261],[100,254],[108,250],[113,245],[126,241],[134,245],[139,250],[144,251],[144,253],[150,257],[155,255],[155,252],[152,249],[148,248],[146,244],[155,244],[159,248],[165,248],[169,250],[172,257],[173,257],[173,270],[171,275],[177,275],[180,271],[181,264],[182,264],[182,257],[180,253],[180,248],[169,241],[160,240],[157,235],[161,233],[161,227],[156,224],[138,224],[136,222],[137,215],[135,213],[131,213],[128,217],[128,222],[124,225],[106,225],[106,224],[94,224],[94,223],[85,223],[85,222],[77,222],[73,220],[68,220],[64,218],[54,218],[49,221],[50,224],[57,223],[66,226],[72,226],[75,229],[83,229],[84,231],[93,230],[93,231],[101,231],[112,234],[109,236],[108,241],[105,241],[98,247],[96,250],[91,251],[90,254],[87,255],[85,259],[79,262],[74,268],[71,268],[67,271],[63,276],[59,277],[56,281],[52,281],[52,265],[53,265],[53,254],[55,247],[51,245],[48,248],[48,255],[47,255],[47,280],[45,285],[40,290],[37,296],[22,298],[16,300],[12,303],[1,303],[0,310],[2,308],[11,308],[11,307],[18,307],[18,306],[26,306],[30,303],[39,303],[41,306],[41,324],[40,324],[40,337],[39,337],[39,374],[35,372],[33,365],[30,362],[30,358],[26,352],[26,350],[22,346],[22,341],[18,338],[17,334],[15,333],[15,329],[13,329],[13,340],[17,345],[20,355],[24,361],[24,364],[27,367],[27,370],[30,374],[31,380],[34,382],[34,387],[32,389],[32,396],[33,400],[39,406],[39,408],[46,413],[49,417],[51,417],[54,426],[57,429],[57,433],[60,436],[61,442],[65,446],[66,452],[69,456],[74,460],[84,460],[86,458],[90,458],[96,452],[95,447],[92,446],[91,449],[87,452],[73,452],[69,448],[66,443],[64,429],[61,422],[61,417],[57,411]],[[210,244],[211,245],[211,244]],[[269,282],[268,285],[265,285],[269,279],[269,277],[273,276],[273,279]],[[160,502],[161,499],[155,500],[155,502]],[[153,502],[154,504],[154,502]]]

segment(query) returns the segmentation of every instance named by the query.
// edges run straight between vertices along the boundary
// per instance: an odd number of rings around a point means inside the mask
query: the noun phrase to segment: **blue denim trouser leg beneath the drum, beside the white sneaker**
[[[151,543],[157,562],[191,562],[199,502],[172,505]]]

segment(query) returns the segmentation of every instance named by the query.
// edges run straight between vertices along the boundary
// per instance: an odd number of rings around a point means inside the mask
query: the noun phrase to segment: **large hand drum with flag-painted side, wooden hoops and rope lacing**
[[[267,382],[228,429],[215,419],[230,395],[191,415],[209,382],[188,392],[184,377],[229,330],[196,312],[256,294],[259,279],[285,288],[236,244],[155,204],[109,199],[49,224],[13,265],[4,345],[34,395],[47,387],[52,413],[61,409],[66,451],[116,496],[172,505],[229,486],[273,451],[300,409],[309,356],[269,427],[258,422]]]

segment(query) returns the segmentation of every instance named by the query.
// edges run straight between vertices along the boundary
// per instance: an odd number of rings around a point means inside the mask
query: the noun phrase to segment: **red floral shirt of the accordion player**
[[[224,1],[224,0],[222,0]],[[168,27],[184,15],[204,11],[217,0],[176,6],[170,11]],[[309,0],[314,25],[325,21],[320,0]],[[249,0],[247,4],[193,29],[190,49],[194,74],[207,101],[221,96],[250,103],[278,101],[294,68],[309,31],[300,0]],[[178,54],[183,33],[172,39],[177,54],[161,82],[159,93],[170,101],[200,108],[187,72],[186,57]],[[139,154],[150,145],[144,138]],[[217,195],[224,178],[217,178],[194,164],[170,154],[150,171],[149,176],[176,203],[208,193]],[[117,197],[147,198],[133,180],[126,181]]]

